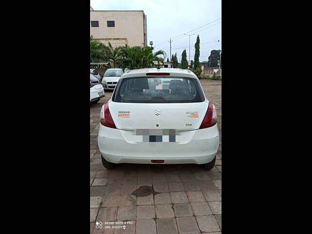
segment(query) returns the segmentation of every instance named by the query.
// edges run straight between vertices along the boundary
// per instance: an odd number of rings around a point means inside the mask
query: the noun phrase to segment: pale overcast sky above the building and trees
[[[90,4],[94,10],[143,10],[148,45],[153,41],[156,50],[164,50],[169,57],[171,38],[171,54],[177,53],[179,61],[184,49],[189,59],[189,37],[185,33],[195,33],[191,36],[191,60],[197,35],[199,61],[208,60],[211,50],[221,49],[221,0],[90,0]]]

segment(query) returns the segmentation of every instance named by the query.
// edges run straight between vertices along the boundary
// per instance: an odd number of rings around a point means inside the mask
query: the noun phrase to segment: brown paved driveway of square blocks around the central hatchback
[[[221,233],[221,81],[200,82],[217,108],[220,132],[216,165],[209,172],[195,164],[118,164],[106,170],[97,136],[100,108],[112,92],[90,105],[90,233]]]

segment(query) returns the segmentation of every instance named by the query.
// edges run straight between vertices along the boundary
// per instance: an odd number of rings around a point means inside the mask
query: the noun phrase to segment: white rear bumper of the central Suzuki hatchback
[[[194,130],[187,143],[137,142],[128,143],[119,129],[100,124],[98,148],[101,155],[112,163],[153,164],[151,160],[164,160],[163,164],[204,164],[212,161],[219,146],[217,125]]]

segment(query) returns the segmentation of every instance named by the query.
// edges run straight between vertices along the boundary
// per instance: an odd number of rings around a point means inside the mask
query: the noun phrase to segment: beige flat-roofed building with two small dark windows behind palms
[[[90,35],[112,46],[147,46],[144,11],[95,11],[90,6]]]

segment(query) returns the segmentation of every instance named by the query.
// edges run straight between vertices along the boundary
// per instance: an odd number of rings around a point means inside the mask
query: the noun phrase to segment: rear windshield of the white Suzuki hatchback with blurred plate
[[[139,77],[123,78],[113,95],[115,102],[177,103],[205,100],[195,78]]]

